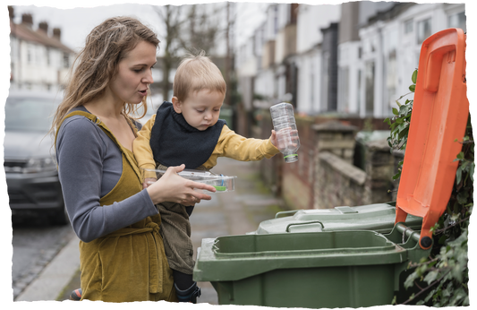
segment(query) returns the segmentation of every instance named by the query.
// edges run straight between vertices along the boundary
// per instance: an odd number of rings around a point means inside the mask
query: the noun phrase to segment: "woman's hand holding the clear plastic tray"
[[[194,188],[204,189],[209,192],[215,192],[216,188],[212,185],[205,185],[179,177],[177,173],[183,171],[184,168],[185,165],[169,167],[164,176],[160,177],[154,184],[149,185],[147,191],[154,204],[176,202],[183,205],[194,205],[202,199],[212,199],[208,194],[194,191]]]

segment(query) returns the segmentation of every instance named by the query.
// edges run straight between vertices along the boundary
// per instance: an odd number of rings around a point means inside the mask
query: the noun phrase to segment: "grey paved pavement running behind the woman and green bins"
[[[266,159],[265,159],[266,160]],[[211,201],[196,205],[192,217],[192,242],[195,253],[202,238],[241,235],[258,228],[262,220],[282,211],[283,202],[260,182],[258,162],[220,158],[212,169],[217,174],[237,176],[235,191],[212,194]],[[78,237],[71,241],[15,299],[15,304],[66,303],[74,288],[80,288]],[[198,306],[218,306],[217,293],[209,282],[199,282],[202,295]]]

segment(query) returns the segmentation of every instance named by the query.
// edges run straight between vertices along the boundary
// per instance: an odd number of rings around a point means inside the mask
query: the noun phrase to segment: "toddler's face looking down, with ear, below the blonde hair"
[[[184,101],[173,97],[172,102],[175,112],[182,113],[187,124],[204,131],[216,125],[224,97],[218,91],[199,90],[190,94]]]

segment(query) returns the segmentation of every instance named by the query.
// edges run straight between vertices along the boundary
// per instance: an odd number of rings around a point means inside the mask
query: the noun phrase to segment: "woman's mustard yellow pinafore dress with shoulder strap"
[[[132,151],[125,149],[97,116],[74,111],[64,119],[78,115],[98,125],[123,154],[123,174],[111,192],[99,200],[100,205],[120,202],[141,192],[141,172]],[[137,129],[130,125],[136,135]],[[158,214],[89,243],[80,241],[81,303],[177,304],[172,271],[159,234],[160,223]]]

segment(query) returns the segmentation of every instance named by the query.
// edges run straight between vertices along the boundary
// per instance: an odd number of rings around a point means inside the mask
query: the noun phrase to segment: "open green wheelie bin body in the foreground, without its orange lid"
[[[405,243],[402,243],[405,232]],[[271,309],[390,306],[409,261],[430,250],[398,223],[371,230],[202,239],[194,280],[208,280],[219,306]]]

